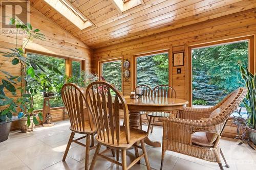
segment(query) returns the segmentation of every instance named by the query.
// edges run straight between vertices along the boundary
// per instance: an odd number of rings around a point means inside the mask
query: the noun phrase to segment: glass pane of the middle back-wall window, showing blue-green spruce
[[[168,53],[154,54],[136,58],[136,86],[148,85],[152,89],[157,85],[169,83]]]

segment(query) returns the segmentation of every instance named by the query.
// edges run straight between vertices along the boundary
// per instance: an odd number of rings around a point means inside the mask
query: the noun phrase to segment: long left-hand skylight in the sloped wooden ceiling
[[[52,8],[58,11],[62,16],[71,21],[80,30],[92,26],[91,21],[87,19],[80,11],[76,9],[67,0],[44,0]]]

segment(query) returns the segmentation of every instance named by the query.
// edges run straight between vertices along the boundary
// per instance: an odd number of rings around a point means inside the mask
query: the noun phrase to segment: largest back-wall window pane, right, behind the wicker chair
[[[248,65],[248,41],[192,50],[193,107],[210,107],[241,87],[239,64]]]

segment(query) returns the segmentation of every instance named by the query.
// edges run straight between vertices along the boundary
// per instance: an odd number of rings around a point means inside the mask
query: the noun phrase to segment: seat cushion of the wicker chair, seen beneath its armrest
[[[195,132],[191,136],[192,143],[201,145],[202,147],[213,147],[214,143],[211,143],[206,135],[206,132]]]

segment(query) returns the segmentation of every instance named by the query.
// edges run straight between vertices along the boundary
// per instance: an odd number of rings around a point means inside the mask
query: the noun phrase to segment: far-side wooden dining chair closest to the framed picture
[[[153,97],[163,97],[163,98],[176,98],[176,91],[173,87],[168,85],[158,85],[152,91]],[[162,126],[156,125],[155,119],[160,117],[169,117],[170,113],[168,112],[151,112],[147,114],[150,117],[148,121],[147,133],[151,131],[153,132],[154,126]]]

